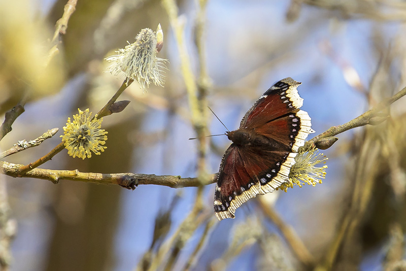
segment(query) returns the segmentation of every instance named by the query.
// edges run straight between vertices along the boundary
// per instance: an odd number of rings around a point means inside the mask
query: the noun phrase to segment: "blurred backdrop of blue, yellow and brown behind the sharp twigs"
[[[164,87],[143,94],[134,82],[120,96],[131,103],[104,118],[108,147],[90,159],[66,150],[42,168],[98,173],[196,177],[197,141],[173,28],[157,0],[81,1],[59,54],[40,72],[66,0],[0,4],[0,114],[27,89],[25,113],[1,141],[35,139],[41,146],[3,160],[27,164],[60,143],[67,117],[103,107],[123,78],[107,73],[105,57],[132,43],[142,28],[161,24],[167,63]],[[198,1],[177,1],[179,22],[196,78]],[[302,82],[302,109],[313,136],[343,124],[406,86],[406,3],[395,0],[207,1],[204,5],[208,104],[230,130],[273,83]],[[24,78],[35,78],[27,82]],[[2,215],[16,222],[5,270],[404,270],[406,98],[377,126],[355,128],[323,151],[326,179],[315,187],[258,196],[218,222],[215,184],[204,188],[204,216],[185,221],[197,188],[144,185],[136,190],[73,181],[1,175]],[[225,128],[210,116],[210,133]],[[210,173],[229,145],[211,138]],[[2,222],[3,223],[3,222]],[[2,236],[7,239],[2,224]],[[293,238],[292,239],[289,239]],[[293,236],[293,237],[292,237]],[[297,244],[300,241],[302,244]],[[3,242],[3,241],[2,241]],[[6,245],[5,245],[6,244]],[[12,259],[8,259],[8,252]],[[302,253],[300,255],[300,253]],[[403,268],[403,269],[401,269]]]

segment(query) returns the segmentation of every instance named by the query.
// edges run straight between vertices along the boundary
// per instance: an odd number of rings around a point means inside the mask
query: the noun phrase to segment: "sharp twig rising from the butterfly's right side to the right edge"
[[[356,117],[355,119],[350,120],[349,122],[344,123],[343,125],[330,127],[325,132],[322,132],[318,136],[307,141],[304,144],[304,146],[301,148],[303,148],[304,150],[314,148],[316,146],[316,144],[318,144],[318,142],[321,141],[322,139],[328,139],[328,138],[334,137],[337,134],[345,132],[352,128],[364,126],[366,124],[371,124],[371,125],[379,124],[380,122],[386,120],[386,116],[384,117],[384,116],[380,115],[379,112],[386,109],[388,106],[390,106],[392,103],[394,103],[394,101],[398,100],[399,98],[403,97],[404,95],[406,95],[406,87],[404,87],[402,90],[400,90],[398,93],[396,93],[392,97],[390,97],[384,101],[381,101],[381,103],[378,104],[375,108],[366,111],[365,113]],[[333,141],[332,143],[334,143],[334,142],[335,141]],[[327,148],[328,147],[331,147],[331,146],[327,146]]]

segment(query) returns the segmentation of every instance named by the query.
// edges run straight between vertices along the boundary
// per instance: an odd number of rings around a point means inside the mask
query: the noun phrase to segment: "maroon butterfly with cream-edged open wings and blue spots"
[[[289,182],[297,150],[314,132],[309,114],[299,109],[300,84],[292,78],[275,83],[248,110],[240,128],[225,133],[232,144],[221,160],[214,193],[219,220],[234,218],[250,198]]]

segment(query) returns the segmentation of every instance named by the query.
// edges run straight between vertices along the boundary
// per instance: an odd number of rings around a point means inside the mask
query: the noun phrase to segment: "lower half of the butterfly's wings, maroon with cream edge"
[[[274,191],[287,181],[293,164],[293,153],[231,144],[223,156],[214,195],[217,218],[234,218],[235,210],[248,199]]]

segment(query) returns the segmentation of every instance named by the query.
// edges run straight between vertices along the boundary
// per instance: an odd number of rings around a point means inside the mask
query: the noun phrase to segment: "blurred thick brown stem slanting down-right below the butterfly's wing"
[[[314,266],[316,261],[309,250],[304,246],[303,242],[300,240],[299,236],[296,234],[292,226],[286,224],[282,218],[278,215],[275,210],[270,207],[263,200],[262,197],[257,200],[259,207],[262,209],[263,213],[278,227],[282,232],[286,242],[289,244],[290,248],[296,254],[297,259],[304,265],[310,267]]]

